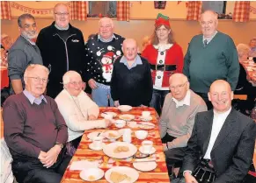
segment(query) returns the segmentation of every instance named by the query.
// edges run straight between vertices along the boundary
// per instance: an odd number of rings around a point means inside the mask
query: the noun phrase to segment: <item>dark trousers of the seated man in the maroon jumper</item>
[[[18,183],[59,183],[71,157],[61,151],[54,165],[46,168],[38,158],[17,158],[12,162],[12,171]]]

